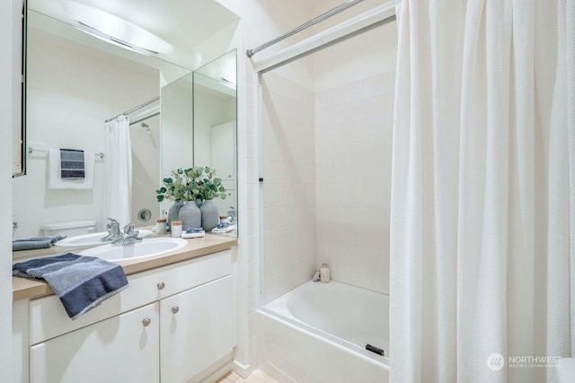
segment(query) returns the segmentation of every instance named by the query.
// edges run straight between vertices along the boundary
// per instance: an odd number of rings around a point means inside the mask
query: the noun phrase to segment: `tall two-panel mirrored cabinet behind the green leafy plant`
[[[232,224],[237,218],[236,60],[234,49],[162,89],[163,177],[191,166],[216,170],[226,198],[215,198],[214,204]],[[167,212],[173,203],[162,204]]]

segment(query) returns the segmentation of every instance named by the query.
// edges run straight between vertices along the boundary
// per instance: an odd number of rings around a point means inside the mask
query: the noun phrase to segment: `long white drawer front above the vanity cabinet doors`
[[[128,289],[104,300],[100,306],[72,320],[56,295],[30,301],[30,344],[39,344],[57,335],[89,326],[106,318],[136,309],[155,300],[231,274],[232,251],[225,250],[128,275]],[[160,289],[160,283],[163,288]]]

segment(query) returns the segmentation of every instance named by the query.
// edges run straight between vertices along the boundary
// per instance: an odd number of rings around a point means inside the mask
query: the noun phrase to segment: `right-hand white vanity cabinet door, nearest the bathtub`
[[[232,352],[232,277],[160,300],[160,358],[163,383],[195,377]]]

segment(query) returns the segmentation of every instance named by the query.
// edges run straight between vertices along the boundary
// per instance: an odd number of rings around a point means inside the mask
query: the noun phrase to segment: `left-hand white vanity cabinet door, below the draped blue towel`
[[[159,303],[31,346],[31,383],[159,381]]]

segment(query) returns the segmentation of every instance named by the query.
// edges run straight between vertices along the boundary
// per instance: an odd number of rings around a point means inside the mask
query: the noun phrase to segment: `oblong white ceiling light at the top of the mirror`
[[[62,7],[78,22],[76,27],[79,30],[99,39],[147,55],[167,54],[173,51],[173,46],[164,39],[111,13],[77,3],[74,0],[62,0]]]

